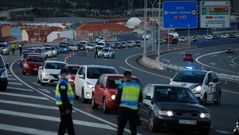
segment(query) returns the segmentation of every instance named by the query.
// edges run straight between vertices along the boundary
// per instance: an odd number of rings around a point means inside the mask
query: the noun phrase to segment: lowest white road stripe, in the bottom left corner
[[[52,131],[13,126],[8,124],[0,124],[0,129],[5,131],[10,131],[10,132],[18,132],[18,133],[31,134],[31,135],[56,135],[57,134],[56,132],[52,132]]]

